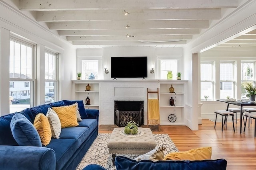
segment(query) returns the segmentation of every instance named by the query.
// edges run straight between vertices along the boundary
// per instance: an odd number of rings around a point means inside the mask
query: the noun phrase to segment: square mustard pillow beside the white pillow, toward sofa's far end
[[[52,107],[60,118],[61,128],[78,126],[76,105]]]

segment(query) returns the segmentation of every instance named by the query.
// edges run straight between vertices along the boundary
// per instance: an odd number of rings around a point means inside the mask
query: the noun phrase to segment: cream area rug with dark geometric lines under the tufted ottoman
[[[108,140],[111,133],[99,133],[98,137],[92,143],[92,146],[86,152],[84,158],[81,160],[80,164],[77,166],[76,170],[82,170],[88,164],[98,164],[103,166],[107,170],[112,168],[112,155],[108,154]],[[178,152],[179,150],[174,145],[168,134],[154,134],[156,141],[156,146],[160,147],[166,145],[166,150],[164,154],[170,152]],[[134,159],[138,154],[122,155],[128,158]]]

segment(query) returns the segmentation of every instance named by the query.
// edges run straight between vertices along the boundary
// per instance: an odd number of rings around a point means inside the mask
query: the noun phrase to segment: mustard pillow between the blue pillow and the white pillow
[[[48,145],[52,139],[52,131],[48,118],[43,113],[36,115],[34,127],[38,131],[42,145]]]

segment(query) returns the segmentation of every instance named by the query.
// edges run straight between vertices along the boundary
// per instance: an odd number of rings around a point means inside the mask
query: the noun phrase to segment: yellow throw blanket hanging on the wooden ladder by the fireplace
[[[149,125],[160,124],[158,99],[148,99],[148,124]]]

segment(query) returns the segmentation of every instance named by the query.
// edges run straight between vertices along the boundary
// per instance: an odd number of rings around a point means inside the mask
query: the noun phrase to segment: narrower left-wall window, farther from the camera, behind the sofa
[[[44,83],[44,94],[45,97],[48,96],[52,99],[45,99],[45,102],[48,103],[57,101],[57,83],[58,83],[58,55],[45,52],[45,83]]]

